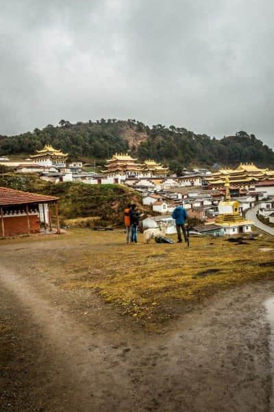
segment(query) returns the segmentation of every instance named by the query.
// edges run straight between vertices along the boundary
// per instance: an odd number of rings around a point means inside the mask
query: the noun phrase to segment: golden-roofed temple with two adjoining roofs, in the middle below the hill
[[[164,168],[160,163],[153,160],[146,160],[144,163],[137,163],[137,159],[132,158],[128,153],[112,155],[107,159],[106,170],[103,173],[108,176],[125,175],[125,176],[166,176],[168,168]]]

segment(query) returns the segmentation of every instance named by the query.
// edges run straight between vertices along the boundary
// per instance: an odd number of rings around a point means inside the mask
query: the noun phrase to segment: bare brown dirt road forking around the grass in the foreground
[[[10,255],[0,257],[1,411],[269,410],[262,302],[273,283],[219,293],[155,333]]]

